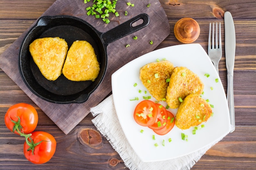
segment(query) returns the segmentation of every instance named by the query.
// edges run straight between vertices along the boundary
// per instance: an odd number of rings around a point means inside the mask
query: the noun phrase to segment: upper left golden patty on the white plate
[[[146,64],[140,69],[139,79],[155,99],[161,101],[166,97],[166,79],[171,77],[173,68],[173,64],[165,60]]]

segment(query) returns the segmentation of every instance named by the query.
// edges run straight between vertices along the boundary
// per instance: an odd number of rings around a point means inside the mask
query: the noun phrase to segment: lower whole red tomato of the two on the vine
[[[54,137],[47,132],[36,131],[32,132],[31,139],[34,144],[40,141],[41,143],[34,147],[33,155],[32,150],[27,151],[29,146],[25,141],[23,152],[27,160],[35,164],[42,164],[49,161],[56,150],[56,140]],[[31,139],[28,139],[28,141],[31,142]]]

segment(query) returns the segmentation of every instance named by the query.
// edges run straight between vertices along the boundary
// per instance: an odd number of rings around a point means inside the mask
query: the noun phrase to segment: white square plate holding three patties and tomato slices
[[[196,73],[204,83],[202,98],[209,99],[209,104],[214,106],[212,108],[213,116],[207,122],[202,123],[204,128],[197,130],[195,135],[192,134],[194,127],[181,130],[177,126],[174,126],[166,135],[157,135],[148,127],[138,125],[133,118],[135,106],[144,100],[143,96],[150,95],[139,79],[140,68],[150,62],[156,62],[157,59],[164,58],[172,62],[174,66],[186,66]],[[204,76],[205,73],[210,76]],[[219,82],[216,82],[215,79],[218,79]],[[134,87],[135,83],[137,86]],[[139,93],[139,90],[142,93]],[[147,93],[145,94],[144,91]],[[190,154],[222,139],[230,130],[225,91],[217,71],[200,44],[169,46],[132,60],[112,74],[112,94],[124,134],[141,161],[144,162],[164,161]],[[135,97],[139,97],[139,101],[130,101]],[[153,97],[150,100],[156,101]],[[161,104],[167,105],[166,102],[161,102]],[[168,110],[176,115],[177,109]],[[141,133],[141,130],[144,132]],[[181,133],[188,136],[187,140],[181,139]],[[155,135],[155,140],[153,140],[153,135]],[[169,138],[171,138],[171,142],[168,141]],[[162,145],[163,140],[164,146]],[[159,146],[156,147],[155,143]]]

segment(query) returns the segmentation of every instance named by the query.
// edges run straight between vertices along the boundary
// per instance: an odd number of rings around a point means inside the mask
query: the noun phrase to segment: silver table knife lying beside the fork
[[[227,67],[227,102],[230,115],[230,132],[235,130],[235,110],[234,110],[234,91],[233,91],[233,74],[235,64],[236,51],[236,33],[232,15],[230,12],[225,12],[225,54]]]

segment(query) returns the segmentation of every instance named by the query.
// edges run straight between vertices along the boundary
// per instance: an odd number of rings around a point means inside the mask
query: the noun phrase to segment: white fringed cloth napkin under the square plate
[[[167,161],[142,162],[128,143],[119,123],[113,97],[110,95],[98,106],[91,108],[95,117],[92,123],[106,137],[111,146],[119,153],[130,170],[189,170],[218,141],[189,155]]]

